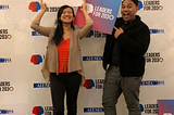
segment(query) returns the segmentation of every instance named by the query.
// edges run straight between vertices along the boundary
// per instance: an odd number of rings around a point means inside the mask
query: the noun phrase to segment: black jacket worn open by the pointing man
[[[123,18],[116,18],[115,27],[123,25]],[[136,15],[124,33],[117,39],[114,38],[114,29],[112,35],[107,35],[107,41],[103,53],[103,68],[110,63],[114,40],[120,44],[120,73],[122,77],[142,76],[145,73],[145,53],[150,43],[150,30],[148,26],[141,22]]]

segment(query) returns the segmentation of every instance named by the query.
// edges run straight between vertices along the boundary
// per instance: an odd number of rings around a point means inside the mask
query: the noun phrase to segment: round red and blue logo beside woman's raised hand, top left
[[[40,3],[37,2],[37,1],[33,1],[33,2],[29,3],[28,9],[29,9],[32,12],[38,12],[38,10],[40,10]]]

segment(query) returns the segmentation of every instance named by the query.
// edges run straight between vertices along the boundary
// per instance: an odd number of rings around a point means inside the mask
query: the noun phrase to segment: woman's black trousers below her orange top
[[[50,74],[50,87],[53,104],[53,115],[64,115],[64,94],[66,92],[67,115],[77,113],[77,95],[82,76],[74,73]]]

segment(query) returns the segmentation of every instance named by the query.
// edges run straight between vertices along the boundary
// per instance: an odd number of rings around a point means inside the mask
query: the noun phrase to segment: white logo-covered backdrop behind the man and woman
[[[45,84],[40,73],[48,38],[29,27],[40,11],[39,5],[32,9],[32,2],[36,3],[32,0],[0,0],[0,114],[52,115],[49,84]],[[174,1],[139,2],[141,9],[137,14],[151,31],[140,106],[142,115],[158,115],[157,101],[174,99]],[[54,26],[57,9],[48,8],[42,26]],[[91,30],[80,42],[87,80],[80,87],[78,115],[103,115],[104,40],[104,34]],[[123,95],[116,107],[117,115],[127,114]]]

